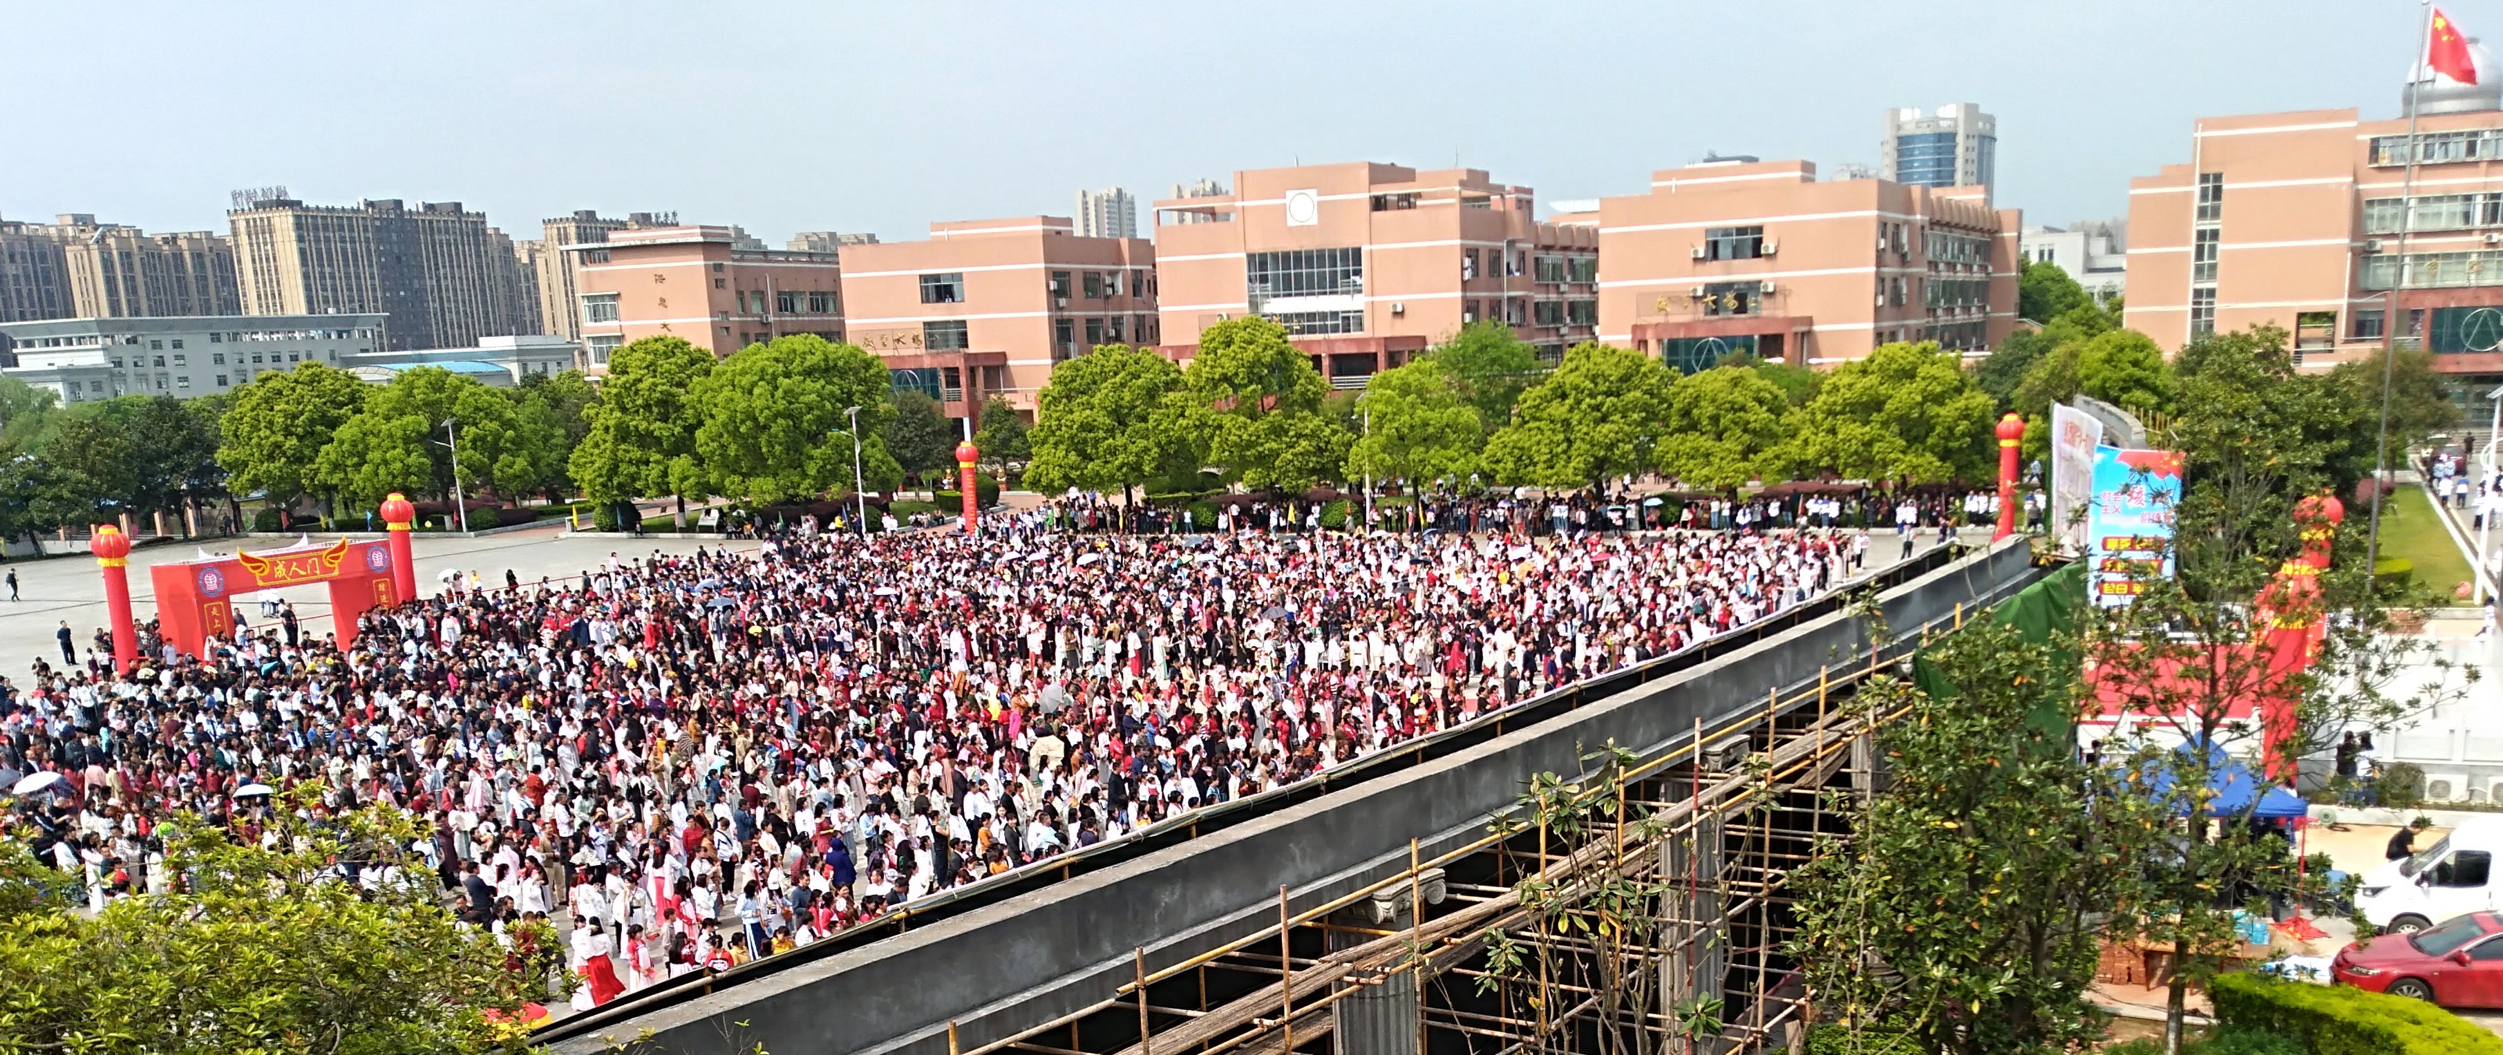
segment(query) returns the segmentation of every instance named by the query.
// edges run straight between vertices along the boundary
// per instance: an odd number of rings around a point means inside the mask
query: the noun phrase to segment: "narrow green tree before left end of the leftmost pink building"
[[[583,442],[568,468],[593,502],[676,495],[686,528],[686,495],[706,495],[696,465],[696,385],[713,372],[713,352],[686,338],[638,338],[608,352],[601,400],[583,408]]]

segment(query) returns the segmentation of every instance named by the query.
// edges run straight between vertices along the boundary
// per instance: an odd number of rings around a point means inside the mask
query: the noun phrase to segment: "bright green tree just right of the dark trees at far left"
[[[315,460],[333,432],[365,408],[368,385],[345,370],[305,362],[235,388],[218,420],[218,465],[238,495],[293,502],[318,488]]]

